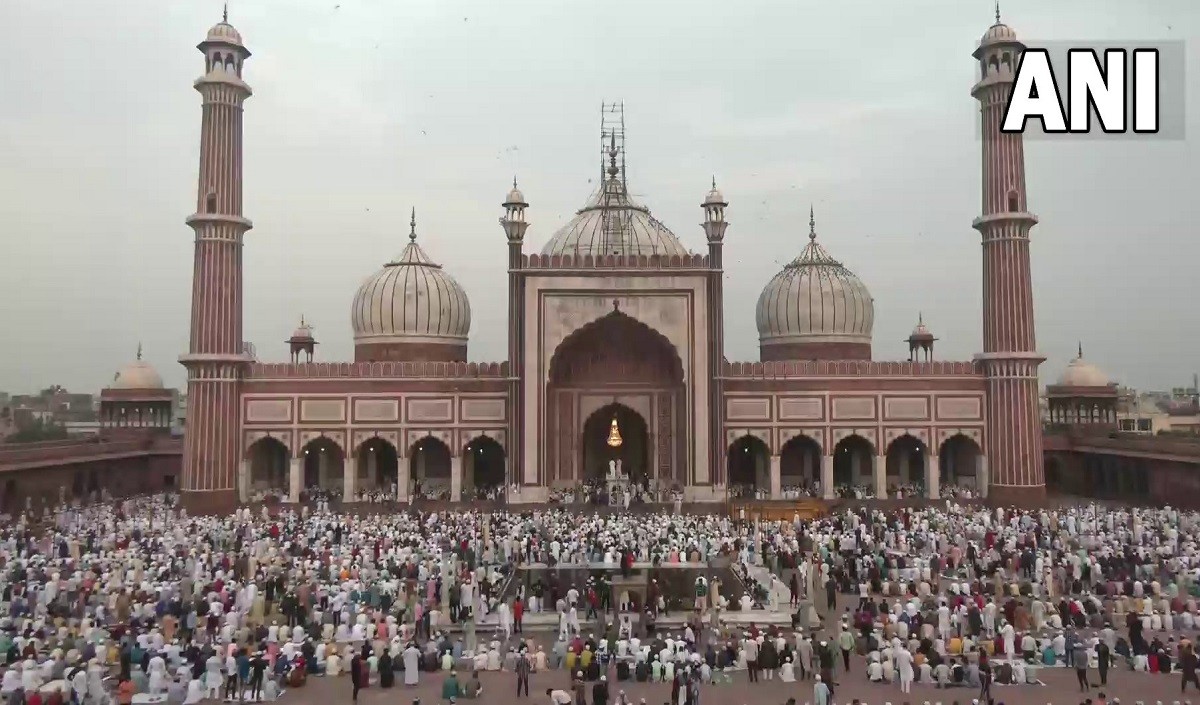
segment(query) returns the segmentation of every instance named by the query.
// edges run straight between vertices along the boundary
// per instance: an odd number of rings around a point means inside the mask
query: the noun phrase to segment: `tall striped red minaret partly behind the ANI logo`
[[[1025,44],[1000,22],[979,42],[979,101],[983,143],[983,215],[972,225],[983,236],[983,354],[988,428],[985,475],[990,499],[1028,504],[1045,496],[1038,366],[1033,335],[1030,229],[1038,218],[1025,194],[1025,150],[1020,134],[1000,131]]]

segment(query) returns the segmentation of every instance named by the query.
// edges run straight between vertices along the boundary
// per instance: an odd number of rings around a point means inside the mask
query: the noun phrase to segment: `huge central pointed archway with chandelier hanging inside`
[[[596,400],[605,406],[596,409]],[[550,361],[547,483],[602,480],[608,462],[652,487],[686,484],[689,432],[683,363],[661,333],[613,305],[566,337]],[[613,417],[624,441],[605,442]],[[652,442],[653,441],[653,442]]]

